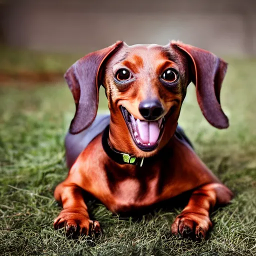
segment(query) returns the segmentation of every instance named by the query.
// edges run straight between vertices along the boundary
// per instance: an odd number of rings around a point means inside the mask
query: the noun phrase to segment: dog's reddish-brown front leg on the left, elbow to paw
[[[87,206],[82,196],[82,188],[72,183],[62,182],[55,188],[54,197],[62,203],[63,210],[54,220],[54,228],[65,227],[69,234],[98,234],[99,222],[90,220]]]

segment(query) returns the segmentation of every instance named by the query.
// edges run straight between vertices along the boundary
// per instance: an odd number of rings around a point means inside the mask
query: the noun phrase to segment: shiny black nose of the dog
[[[140,114],[146,120],[155,120],[163,113],[162,104],[157,99],[145,99],[138,105]]]

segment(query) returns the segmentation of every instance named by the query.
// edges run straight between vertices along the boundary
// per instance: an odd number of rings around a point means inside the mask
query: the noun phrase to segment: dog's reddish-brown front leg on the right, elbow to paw
[[[182,237],[204,239],[212,223],[209,213],[215,204],[226,204],[232,198],[232,192],[220,183],[200,186],[192,192],[186,207],[175,218],[171,232]]]

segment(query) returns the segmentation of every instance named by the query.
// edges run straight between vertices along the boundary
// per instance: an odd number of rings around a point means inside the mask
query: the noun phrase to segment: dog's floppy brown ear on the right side
[[[192,77],[196,86],[197,101],[202,114],[216,128],[228,127],[228,118],[220,105],[220,88],[227,63],[213,53],[182,42],[171,42],[187,54]]]

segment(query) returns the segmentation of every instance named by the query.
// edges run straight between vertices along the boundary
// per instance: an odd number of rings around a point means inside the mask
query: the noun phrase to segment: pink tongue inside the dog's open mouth
[[[136,120],[137,122],[137,130],[139,134],[139,138],[142,143],[156,143],[156,140],[159,136],[160,129],[158,127],[157,121],[141,121],[139,119]]]

